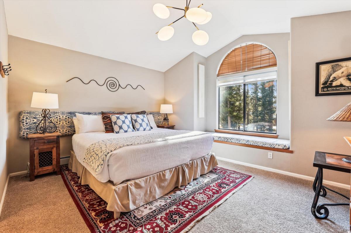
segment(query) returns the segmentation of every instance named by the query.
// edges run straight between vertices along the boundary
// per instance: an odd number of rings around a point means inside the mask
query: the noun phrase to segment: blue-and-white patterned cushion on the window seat
[[[226,134],[226,133],[214,133],[207,132],[213,135],[214,140],[224,141],[224,142],[234,142],[241,144],[249,144],[261,147],[270,147],[278,149],[289,149],[290,140],[286,139],[276,139],[269,137],[257,137],[257,136],[247,136],[239,134]]]

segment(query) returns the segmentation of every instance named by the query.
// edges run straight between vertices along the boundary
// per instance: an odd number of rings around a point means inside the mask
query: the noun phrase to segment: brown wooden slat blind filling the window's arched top
[[[230,51],[219,66],[218,76],[277,66],[272,50],[261,44],[245,44]]]

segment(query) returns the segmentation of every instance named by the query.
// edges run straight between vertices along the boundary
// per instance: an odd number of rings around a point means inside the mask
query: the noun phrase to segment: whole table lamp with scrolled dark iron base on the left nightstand
[[[45,93],[42,92],[33,92],[32,96],[32,108],[42,108],[41,110],[41,121],[38,123],[37,130],[38,134],[45,133],[54,133],[57,130],[57,126],[54,122],[52,122],[49,117],[51,117],[49,108],[59,108],[59,99],[58,94],[46,93],[47,89],[45,89]],[[46,125],[46,120],[51,122],[49,126]],[[42,123],[42,125],[41,125]]]

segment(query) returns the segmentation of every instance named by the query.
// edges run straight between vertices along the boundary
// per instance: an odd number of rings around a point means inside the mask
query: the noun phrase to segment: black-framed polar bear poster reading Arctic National
[[[316,63],[316,96],[351,94],[351,57]]]

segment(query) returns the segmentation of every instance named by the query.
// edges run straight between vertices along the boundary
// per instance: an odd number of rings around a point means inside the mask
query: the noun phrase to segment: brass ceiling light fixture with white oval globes
[[[208,23],[212,19],[212,14],[211,12],[206,12],[206,10],[200,8],[204,4],[201,4],[198,7],[193,7],[189,8],[191,0],[188,3],[188,0],[186,0],[186,6],[184,9],[177,8],[177,7],[170,7],[170,6],[165,6],[161,3],[156,3],[153,7],[152,10],[155,13],[155,15],[161,19],[167,19],[170,16],[170,10],[168,8],[173,8],[173,9],[178,9],[178,10],[183,10],[184,15],[181,16],[179,19],[174,21],[173,23],[177,22],[178,20],[182,19],[183,17],[188,19],[192,24],[194,24],[195,28],[197,29],[193,35],[192,39],[193,42],[197,45],[205,45],[208,42],[208,34],[206,31],[199,30],[199,28],[196,26],[195,23],[197,24],[205,24]],[[170,38],[172,38],[174,34],[174,28],[171,27],[173,24],[168,24],[167,26],[161,28],[156,34],[159,40],[161,41],[167,41]]]

